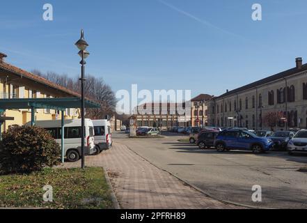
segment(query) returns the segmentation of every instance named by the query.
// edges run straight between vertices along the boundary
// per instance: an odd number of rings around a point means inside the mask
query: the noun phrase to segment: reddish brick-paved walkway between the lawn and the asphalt
[[[80,165],[80,161],[68,162],[64,167]],[[107,169],[121,208],[239,208],[206,197],[122,144],[86,157],[86,166]]]

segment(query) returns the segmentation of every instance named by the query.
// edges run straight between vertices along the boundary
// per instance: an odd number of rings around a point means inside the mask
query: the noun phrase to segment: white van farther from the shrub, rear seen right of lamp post
[[[95,144],[100,148],[100,152],[112,146],[111,123],[107,119],[93,120],[95,131]]]

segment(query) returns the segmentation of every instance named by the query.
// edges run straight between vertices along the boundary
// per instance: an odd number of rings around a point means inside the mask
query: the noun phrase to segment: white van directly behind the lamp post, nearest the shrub
[[[26,123],[31,125],[31,123]],[[97,150],[94,143],[93,121],[86,118],[85,122],[85,155],[95,155]],[[61,120],[36,121],[36,126],[45,128],[56,142],[61,145]],[[64,154],[70,162],[76,162],[81,157],[81,119],[64,121]]]

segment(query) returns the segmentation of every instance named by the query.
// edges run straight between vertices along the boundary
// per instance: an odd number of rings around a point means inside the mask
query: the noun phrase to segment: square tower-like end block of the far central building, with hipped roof
[[[189,126],[203,127],[208,125],[206,102],[212,95],[200,94],[191,100],[191,122]]]

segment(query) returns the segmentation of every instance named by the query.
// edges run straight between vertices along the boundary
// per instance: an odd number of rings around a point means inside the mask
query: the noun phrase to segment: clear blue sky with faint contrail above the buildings
[[[54,21],[42,20],[52,3]],[[251,20],[253,3],[262,21]],[[26,70],[79,74],[74,43],[84,28],[86,72],[114,91],[226,89],[307,61],[306,0],[3,1],[0,52]]]

